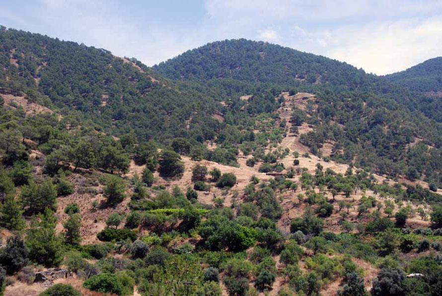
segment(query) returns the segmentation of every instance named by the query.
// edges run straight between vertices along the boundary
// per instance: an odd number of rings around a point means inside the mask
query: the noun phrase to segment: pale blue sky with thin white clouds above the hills
[[[0,0],[0,24],[148,66],[246,38],[378,75],[442,56],[441,0]]]

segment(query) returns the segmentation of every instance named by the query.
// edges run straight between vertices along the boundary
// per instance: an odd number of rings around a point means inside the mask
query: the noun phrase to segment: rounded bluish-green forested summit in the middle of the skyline
[[[359,86],[375,79],[346,63],[245,39],[209,43],[153,69],[173,79],[233,78],[279,84],[306,81]]]

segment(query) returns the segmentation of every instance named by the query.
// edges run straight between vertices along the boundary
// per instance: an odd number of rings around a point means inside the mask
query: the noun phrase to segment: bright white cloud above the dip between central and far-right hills
[[[367,72],[389,74],[442,55],[442,19],[400,20],[334,32],[337,45],[331,58],[362,67]]]

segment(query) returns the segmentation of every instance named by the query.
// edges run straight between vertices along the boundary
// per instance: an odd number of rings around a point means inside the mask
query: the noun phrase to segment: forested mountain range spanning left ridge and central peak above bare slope
[[[208,159],[237,165],[238,148],[268,148],[251,133],[257,120],[275,116],[283,103],[275,97],[314,93],[307,110],[295,111],[313,127],[300,139],[313,153],[332,145],[335,161],[391,176],[416,170],[442,184],[440,101],[346,63],[239,39],[209,43],[149,69],[104,49],[13,29],[1,30],[0,41],[3,92],[53,109],[71,128],[162,145],[186,138]],[[218,149],[211,152],[206,141]],[[435,148],[432,154],[423,143]]]

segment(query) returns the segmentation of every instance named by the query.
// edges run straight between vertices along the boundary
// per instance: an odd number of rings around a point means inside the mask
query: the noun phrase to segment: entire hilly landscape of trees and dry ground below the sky
[[[440,295],[441,73],[1,26],[1,293]]]

